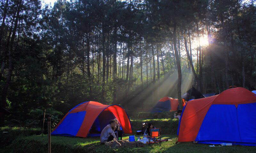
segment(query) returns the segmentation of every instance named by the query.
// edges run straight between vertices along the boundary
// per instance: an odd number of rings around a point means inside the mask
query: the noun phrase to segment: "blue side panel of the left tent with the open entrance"
[[[52,132],[52,135],[59,135],[61,133],[65,136],[76,136],[83,123],[85,114],[86,111],[69,113],[59,127]]]

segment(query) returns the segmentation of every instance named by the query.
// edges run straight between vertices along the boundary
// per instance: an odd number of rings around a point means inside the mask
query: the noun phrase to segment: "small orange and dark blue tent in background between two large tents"
[[[178,99],[164,97],[164,98],[161,98],[156,103],[156,105],[152,108],[152,110],[150,112],[156,113],[156,112],[177,111],[178,105],[179,105]]]

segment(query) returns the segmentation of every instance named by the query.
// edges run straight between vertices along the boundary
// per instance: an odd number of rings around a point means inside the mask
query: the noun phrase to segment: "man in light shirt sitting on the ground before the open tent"
[[[103,130],[101,131],[100,134],[100,142],[101,143],[105,143],[105,142],[109,142],[109,141],[116,141],[116,135],[114,133],[114,131],[112,130],[112,128],[114,128],[116,125],[115,120],[110,120],[108,125],[103,128]]]

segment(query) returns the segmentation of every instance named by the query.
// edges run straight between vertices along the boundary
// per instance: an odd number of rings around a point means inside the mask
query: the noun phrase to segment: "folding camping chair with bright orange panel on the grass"
[[[150,144],[157,144],[161,146],[161,129],[160,128],[150,128],[149,129],[150,135],[148,135],[148,145]],[[153,142],[151,142],[153,141]]]

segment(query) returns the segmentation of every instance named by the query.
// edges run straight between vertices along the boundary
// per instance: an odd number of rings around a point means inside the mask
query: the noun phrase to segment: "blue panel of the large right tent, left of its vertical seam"
[[[204,117],[195,141],[241,142],[236,106],[212,105]]]

